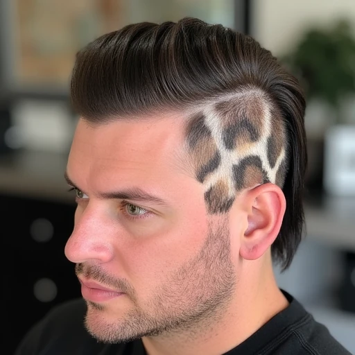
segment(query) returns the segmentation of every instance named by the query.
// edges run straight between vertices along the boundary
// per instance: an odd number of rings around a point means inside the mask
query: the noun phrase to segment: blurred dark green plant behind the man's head
[[[310,28],[282,62],[297,76],[308,99],[320,98],[337,111],[355,94],[355,38],[349,21],[331,28]]]

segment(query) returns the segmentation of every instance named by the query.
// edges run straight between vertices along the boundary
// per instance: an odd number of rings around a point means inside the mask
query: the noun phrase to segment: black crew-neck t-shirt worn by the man
[[[297,300],[285,295],[290,305],[284,311],[234,349],[216,355],[352,355]],[[146,355],[141,340],[98,343],[85,330],[85,313],[82,299],[55,307],[28,332],[15,355]]]

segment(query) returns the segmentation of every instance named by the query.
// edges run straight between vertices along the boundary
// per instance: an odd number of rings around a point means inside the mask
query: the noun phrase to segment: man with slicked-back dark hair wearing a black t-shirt
[[[252,38],[185,18],[78,53],[65,248],[83,300],[17,354],[349,354],[288,293],[300,243],[304,96]]]

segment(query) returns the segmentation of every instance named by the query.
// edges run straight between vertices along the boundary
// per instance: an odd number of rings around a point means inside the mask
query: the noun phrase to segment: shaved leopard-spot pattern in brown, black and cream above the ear
[[[187,125],[196,179],[209,214],[229,211],[236,194],[272,182],[282,187],[288,165],[282,114],[259,89],[205,105]]]

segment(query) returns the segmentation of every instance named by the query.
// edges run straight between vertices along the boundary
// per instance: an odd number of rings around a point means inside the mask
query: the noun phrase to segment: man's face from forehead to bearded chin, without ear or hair
[[[207,215],[177,121],[78,123],[67,174],[79,198],[65,253],[80,281],[116,292],[84,289],[87,328],[100,340],[211,322],[232,299],[228,218]]]

